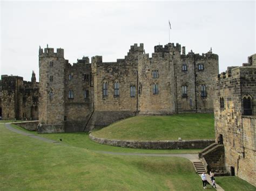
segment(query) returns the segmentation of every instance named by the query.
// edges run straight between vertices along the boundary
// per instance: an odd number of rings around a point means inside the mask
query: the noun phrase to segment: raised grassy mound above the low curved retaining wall
[[[213,114],[136,116],[92,132],[93,136],[121,140],[214,139]]]

